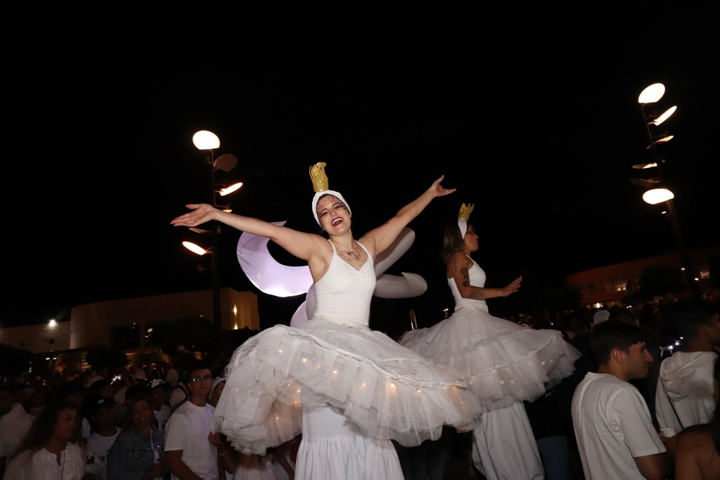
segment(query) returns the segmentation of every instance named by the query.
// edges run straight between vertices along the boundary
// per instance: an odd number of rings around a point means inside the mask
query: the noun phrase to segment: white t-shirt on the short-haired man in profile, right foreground
[[[572,397],[585,480],[644,480],[634,458],[665,452],[640,392],[609,373],[588,373]]]

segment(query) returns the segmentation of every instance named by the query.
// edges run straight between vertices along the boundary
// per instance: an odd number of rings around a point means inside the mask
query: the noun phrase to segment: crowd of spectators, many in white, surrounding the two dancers
[[[521,425],[529,421],[531,427],[518,443],[534,441],[539,456],[525,455],[518,465],[539,458],[547,479],[674,474],[676,480],[689,480],[720,474],[718,305],[705,299],[661,302],[641,324],[642,309],[642,304],[610,307],[608,319],[597,324],[593,312],[564,314],[563,341],[582,356],[572,375],[532,402],[520,403],[521,416],[526,415]],[[86,371],[50,384],[0,386],[4,478],[168,479],[173,471],[178,479],[195,478],[183,476],[187,467],[202,479],[233,474],[293,479],[302,435],[264,455],[243,454],[213,425],[212,409],[227,383],[228,362],[217,358],[203,363],[185,353],[176,357],[177,368],[172,363],[132,366],[114,381],[107,372]],[[513,424],[507,426],[520,435]],[[516,458],[516,447],[503,446],[507,443],[490,444],[495,449],[490,458],[499,459],[492,468]],[[474,450],[478,445],[484,444],[476,441]],[[395,449],[404,478],[443,478],[447,441],[428,440],[413,448],[396,442]],[[488,462],[477,462],[480,454],[473,453],[476,466],[493,478]],[[532,477],[498,473],[495,478]]]

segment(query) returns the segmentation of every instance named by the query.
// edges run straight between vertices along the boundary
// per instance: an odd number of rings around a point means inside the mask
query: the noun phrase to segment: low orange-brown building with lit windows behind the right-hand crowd
[[[710,283],[708,272],[708,259],[712,255],[720,253],[720,247],[698,248],[689,250],[690,261],[693,263],[698,286],[703,293],[717,295],[717,289]],[[634,261],[616,263],[600,268],[593,268],[567,277],[567,285],[577,288],[582,292],[582,305],[592,304],[620,304],[630,292],[640,290],[637,281],[643,269],[647,266],[669,266],[680,270],[683,263],[680,260],[680,253],[667,253],[648,258],[639,258]],[[686,292],[685,295],[688,293]],[[683,296],[683,295],[680,295]]]

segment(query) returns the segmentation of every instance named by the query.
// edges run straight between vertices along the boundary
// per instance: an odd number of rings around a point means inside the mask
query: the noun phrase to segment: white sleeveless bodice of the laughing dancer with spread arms
[[[330,242],[330,240],[328,240]],[[356,270],[342,258],[333,246],[333,259],[323,278],[315,282],[315,314],[313,317],[331,322],[354,322],[366,327],[370,318],[370,300],[377,278],[372,257],[358,242],[367,261]]]

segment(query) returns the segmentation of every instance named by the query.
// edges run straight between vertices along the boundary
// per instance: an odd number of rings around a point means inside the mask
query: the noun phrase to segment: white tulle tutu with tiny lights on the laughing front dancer
[[[312,319],[278,325],[235,350],[215,424],[242,453],[264,455],[302,430],[302,406],[330,405],[366,438],[419,445],[443,425],[472,430],[480,406],[448,366],[382,332]]]

